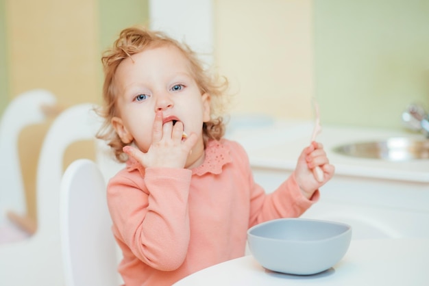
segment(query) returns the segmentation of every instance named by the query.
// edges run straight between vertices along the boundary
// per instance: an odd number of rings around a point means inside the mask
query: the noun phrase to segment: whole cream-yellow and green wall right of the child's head
[[[216,0],[215,55],[233,113],[404,128],[429,110],[429,1]]]

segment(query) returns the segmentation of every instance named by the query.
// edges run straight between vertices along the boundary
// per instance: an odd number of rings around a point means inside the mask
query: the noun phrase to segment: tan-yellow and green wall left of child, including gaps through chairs
[[[8,100],[44,88],[56,94],[62,109],[100,102],[101,51],[121,28],[147,22],[147,0],[1,1],[1,15],[7,15],[6,36],[0,38],[6,38]],[[38,153],[52,120],[25,128],[19,140],[27,209],[34,219]],[[93,159],[93,142],[72,144],[64,168],[79,157]]]

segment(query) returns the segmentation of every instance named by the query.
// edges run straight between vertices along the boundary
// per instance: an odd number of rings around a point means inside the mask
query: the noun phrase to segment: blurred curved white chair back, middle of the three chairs
[[[73,142],[95,139],[99,118],[92,103],[73,105],[56,117],[45,135],[38,160],[36,177],[37,232],[51,237],[58,234],[58,202],[63,175],[64,153]]]

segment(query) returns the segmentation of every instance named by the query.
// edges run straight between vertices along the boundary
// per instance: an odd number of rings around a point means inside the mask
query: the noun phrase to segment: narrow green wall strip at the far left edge
[[[0,116],[9,102],[5,0],[0,0]]]

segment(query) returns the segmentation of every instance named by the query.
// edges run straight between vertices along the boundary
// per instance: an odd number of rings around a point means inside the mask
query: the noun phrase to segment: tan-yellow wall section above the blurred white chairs
[[[61,105],[95,100],[97,2],[6,1],[10,92],[40,87]]]

